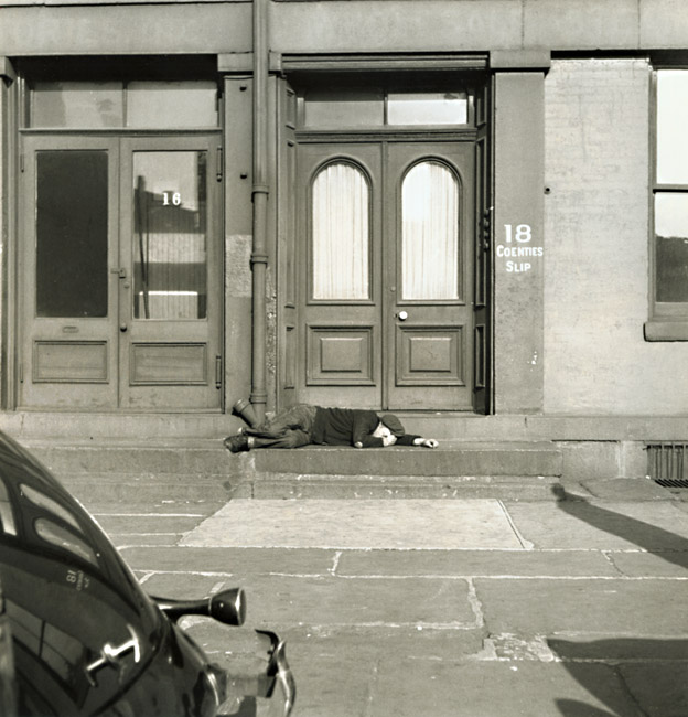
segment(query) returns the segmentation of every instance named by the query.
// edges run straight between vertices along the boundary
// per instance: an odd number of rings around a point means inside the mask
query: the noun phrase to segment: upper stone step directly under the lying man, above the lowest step
[[[249,475],[561,475],[562,456],[549,442],[447,441],[433,450],[393,447],[260,449],[228,453],[221,441],[132,443],[120,441],[24,441],[56,473]]]

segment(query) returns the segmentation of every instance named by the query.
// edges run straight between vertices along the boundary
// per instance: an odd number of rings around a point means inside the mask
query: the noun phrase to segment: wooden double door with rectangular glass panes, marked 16
[[[217,145],[23,138],[20,406],[219,408]]]

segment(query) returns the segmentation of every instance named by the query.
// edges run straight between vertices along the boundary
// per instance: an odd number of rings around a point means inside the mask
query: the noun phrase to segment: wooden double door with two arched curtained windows
[[[299,400],[481,410],[475,165],[475,141],[299,146]]]

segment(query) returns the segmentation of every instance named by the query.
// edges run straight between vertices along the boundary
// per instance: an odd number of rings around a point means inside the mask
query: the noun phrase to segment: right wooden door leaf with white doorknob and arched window
[[[390,143],[386,407],[472,407],[473,143]]]

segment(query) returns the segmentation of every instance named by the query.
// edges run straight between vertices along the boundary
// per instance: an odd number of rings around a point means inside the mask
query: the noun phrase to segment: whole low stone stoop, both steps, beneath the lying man
[[[546,500],[563,463],[553,443],[528,441],[237,454],[216,439],[23,443],[86,504],[233,497]]]

